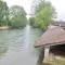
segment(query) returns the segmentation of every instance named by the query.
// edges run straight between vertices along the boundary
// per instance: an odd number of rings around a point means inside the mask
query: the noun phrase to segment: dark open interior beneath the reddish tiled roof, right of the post
[[[50,53],[54,55],[65,56],[65,44],[50,47]]]

